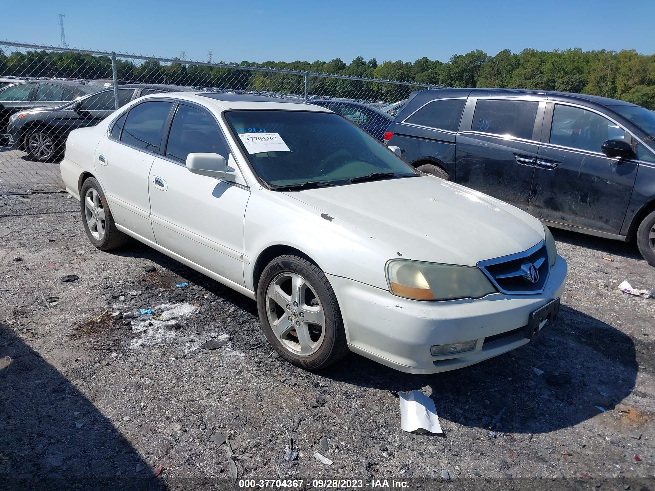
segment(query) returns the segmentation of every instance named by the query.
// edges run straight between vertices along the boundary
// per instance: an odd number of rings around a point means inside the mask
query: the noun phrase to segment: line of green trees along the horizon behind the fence
[[[221,62],[223,63],[223,62]],[[502,50],[489,56],[482,50],[454,54],[446,62],[419,58],[415,62],[384,62],[358,56],[350,64],[340,58],[329,62],[241,62],[242,67],[261,67],[330,73],[449,87],[529,88],[579,92],[621,99],[655,109],[655,54],[635,50],[582,51],[580,48],[520,53]],[[243,90],[271,90],[302,94],[304,77],[246,69],[208,67],[147,61],[117,60],[118,76],[135,82],[209,86]],[[111,79],[107,56],[47,51],[0,51],[0,75],[21,77],[80,77]],[[384,82],[309,77],[309,93],[333,97],[396,101],[414,86]]]

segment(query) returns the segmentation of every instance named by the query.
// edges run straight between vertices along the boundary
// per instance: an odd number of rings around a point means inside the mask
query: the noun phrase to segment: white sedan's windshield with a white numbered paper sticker
[[[375,138],[333,113],[227,111],[253,169],[272,186],[349,184],[354,177],[418,175]]]

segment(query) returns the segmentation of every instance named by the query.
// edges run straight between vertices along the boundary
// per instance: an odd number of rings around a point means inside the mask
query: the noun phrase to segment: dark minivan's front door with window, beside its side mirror
[[[599,111],[549,101],[528,211],[545,221],[619,234],[638,164],[608,157],[601,145],[629,138]]]

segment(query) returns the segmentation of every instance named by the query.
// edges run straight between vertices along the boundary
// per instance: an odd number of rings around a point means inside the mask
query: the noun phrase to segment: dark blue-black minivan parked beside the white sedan
[[[419,170],[552,227],[637,239],[655,266],[655,113],[614,99],[504,89],[413,92],[387,128]]]

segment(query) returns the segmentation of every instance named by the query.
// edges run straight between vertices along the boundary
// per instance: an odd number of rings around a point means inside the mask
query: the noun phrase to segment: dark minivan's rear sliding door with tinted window
[[[470,97],[470,126],[467,120],[455,137],[453,180],[526,210],[545,107],[538,99]]]

